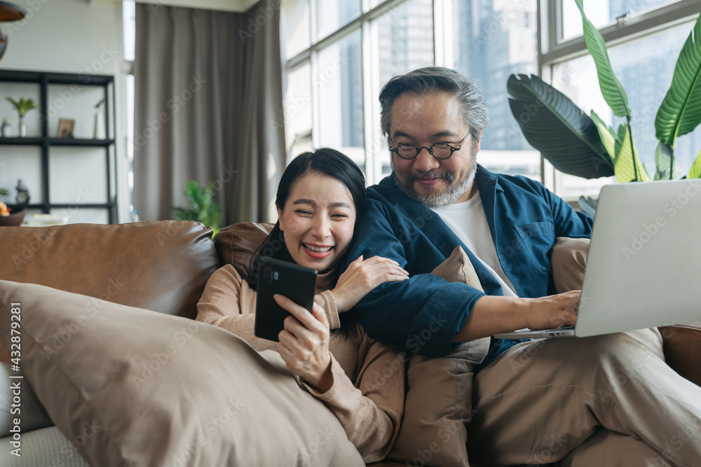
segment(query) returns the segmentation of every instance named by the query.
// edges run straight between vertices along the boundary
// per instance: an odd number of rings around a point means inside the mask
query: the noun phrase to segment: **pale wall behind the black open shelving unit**
[[[2,23],[1,27],[8,34],[8,50],[0,61],[0,69],[57,71],[62,73],[106,74],[116,76],[115,93],[117,111],[116,121],[116,158],[119,220],[128,220],[129,193],[127,183],[128,160],[126,157],[125,137],[125,92],[123,78],[123,38],[122,8],[117,1],[88,0],[12,0],[27,9],[27,18],[15,23]],[[0,84],[0,118],[11,118],[13,132],[16,132],[18,117],[4,97],[8,92],[22,92],[30,97],[31,88],[25,85]],[[20,86],[20,88],[16,88]],[[84,92],[83,92],[84,91]],[[60,102],[59,88],[49,95],[49,104]],[[36,91],[38,97],[38,91]],[[60,112],[50,117],[50,135],[57,128],[58,118],[76,119],[76,136],[92,137],[93,113],[90,108],[93,101],[99,100],[94,95],[94,88],[86,88],[70,99],[72,102],[62,106]],[[81,99],[83,99],[81,101]],[[86,104],[88,102],[88,104]],[[85,109],[90,109],[86,113]],[[113,107],[114,109],[114,107]],[[76,113],[79,116],[76,117]],[[33,114],[33,115],[32,115]],[[36,133],[39,118],[36,111],[29,113],[28,132]],[[30,118],[31,117],[31,118]],[[55,120],[55,121],[53,121]],[[33,127],[33,125],[36,125]],[[84,134],[79,134],[84,133]],[[34,148],[18,146],[0,146],[0,186],[10,188],[14,198],[14,186],[18,178],[34,183],[38,179],[36,171],[36,153]],[[72,202],[83,199],[81,193],[95,193],[89,202],[104,202],[104,187],[95,185],[95,158],[104,158],[104,151],[95,154],[90,151],[61,151],[52,149],[50,180],[57,181],[56,193],[52,193],[52,202]],[[55,159],[55,160],[53,160]],[[22,172],[25,176],[22,176]],[[102,177],[99,178],[102,181]],[[101,182],[104,185],[104,181]],[[32,186],[29,187],[32,190]],[[81,191],[82,190],[82,191]],[[32,190],[33,199],[41,199],[41,187]],[[102,222],[106,216],[89,211],[71,210],[71,222]],[[71,214],[69,213],[69,214]]]

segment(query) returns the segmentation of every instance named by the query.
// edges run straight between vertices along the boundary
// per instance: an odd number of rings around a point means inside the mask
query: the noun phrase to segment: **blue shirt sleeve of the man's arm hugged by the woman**
[[[411,276],[408,280],[388,282],[375,288],[360,300],[355,312],[367,333],[378,340],[417,354],[447,354],[453,348],[454,336],[484,293],[466,284],[449,283],[433,274],[419,274],[418,265],[427,263],[426,256],[435,256],[438,252],[422,232],[409,229],[407,220],[396,216],[397,213],[390,214],[383,203],[369,200],[348,258],[361,254],[365,258],[390,258]],[[402,225],[408,233],[397,235],[393,225]],[[442,259],[435,256],[435,265]],[[433,267],[428,266],[421,272]]]

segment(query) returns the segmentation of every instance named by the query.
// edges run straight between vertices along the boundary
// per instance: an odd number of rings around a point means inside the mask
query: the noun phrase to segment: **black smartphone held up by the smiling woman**
[[[278,334],[290,316],[273,295],[279,293],[305,307],[311,313],[316,292],[316,270],[287,261],[261,258],[258,266],[258,294],[254,333],[262,339],[278,342]]]

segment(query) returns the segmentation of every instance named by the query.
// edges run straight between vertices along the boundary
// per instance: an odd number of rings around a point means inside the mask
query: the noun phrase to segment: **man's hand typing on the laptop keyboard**
[[[570,291],[546,297],[526,299],[525,327],[550,329],[574,326],[581,291]]]

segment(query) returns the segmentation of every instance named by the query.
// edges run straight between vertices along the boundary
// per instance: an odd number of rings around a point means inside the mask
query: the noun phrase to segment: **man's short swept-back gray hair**
[[[395,99],[404,92],[415,95],[430,95],[448,92],[458,98],[463,109],[463,119],[470,127],[472,146],[477,146],[482,128],[489,122],[489,110],[484,103],[482,84],[444,67],[419,68],[390,79],[380,92],[380,125],[382,134],[390,138],[390,120]]]

